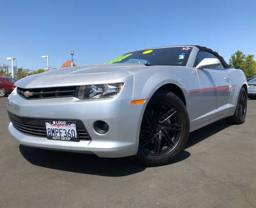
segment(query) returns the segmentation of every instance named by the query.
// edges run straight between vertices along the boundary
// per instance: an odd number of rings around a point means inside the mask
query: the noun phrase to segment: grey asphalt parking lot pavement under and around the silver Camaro
[[[0,98],[0,207],[256,207],[256,100],[246,122],[215,122],[190,134],[172,164],[144,168],[20,146]]]

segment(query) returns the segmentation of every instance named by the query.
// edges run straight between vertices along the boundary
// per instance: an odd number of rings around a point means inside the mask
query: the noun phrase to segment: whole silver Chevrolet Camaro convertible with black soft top
[[[25,146],[132,156],[168,164],[189,133],[226,118],[242,124],[247,81],[201,46],[133,51],[107,64],[25,77],[8,98],[9,132]]]

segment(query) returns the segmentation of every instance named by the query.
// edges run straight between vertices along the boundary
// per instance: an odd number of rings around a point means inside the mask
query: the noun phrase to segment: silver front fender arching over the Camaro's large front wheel
[[[200,85],[195,68],[185,66],[149,66],[134,70],[134,92],[132,99],[147,99],[165,84],[175,84],[181,88],[186,99],[190,120],[198,117],[200,106]],[[146,103],[145,103],[146,104]]]

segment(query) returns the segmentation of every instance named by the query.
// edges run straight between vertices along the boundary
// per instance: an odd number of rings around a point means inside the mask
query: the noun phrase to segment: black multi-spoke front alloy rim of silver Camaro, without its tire
[[[167,102],[153,101],[142,119],[139,148],[149,155],[168,153],[181,139],[181,130],[177,109]]]

